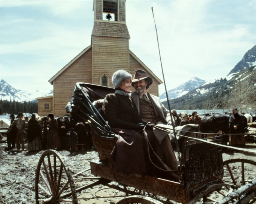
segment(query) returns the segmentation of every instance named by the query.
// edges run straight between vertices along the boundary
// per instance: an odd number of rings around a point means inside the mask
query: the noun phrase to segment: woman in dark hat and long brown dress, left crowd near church
[[[47,149],[58,149],[60,148],[60,140],[58,135],[58,125],[57,120],[55,119],[52,113],[48,114],[49,126],[47,127]]]

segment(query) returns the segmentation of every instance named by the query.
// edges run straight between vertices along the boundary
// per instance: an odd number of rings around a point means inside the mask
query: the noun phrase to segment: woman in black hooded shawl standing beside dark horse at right
[[[246,124],[242,114],[237,112],[237,109],[233,109],[233,114],[229,117],[229,145],[230,146],[244,146],[245,140],[244,135],[232,135],[233,134],[243,134],[245,132]]]

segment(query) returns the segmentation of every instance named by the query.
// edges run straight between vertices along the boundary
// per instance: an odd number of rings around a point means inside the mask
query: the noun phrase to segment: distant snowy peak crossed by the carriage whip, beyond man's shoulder
[[[192,91],[193,89],[200,87],[203,85],[206,81],[203,79],[199,79],[197,77],[193,77],[192,79],[188,80],[187,82],[175,87],[174,89],[169,90],[168,93],[168,98],[173,99],[173,98],[179,98],[182,95],[187,94],[189,91]],[[161,101],[166,100],[166,94],[163,93],[159,96]]]

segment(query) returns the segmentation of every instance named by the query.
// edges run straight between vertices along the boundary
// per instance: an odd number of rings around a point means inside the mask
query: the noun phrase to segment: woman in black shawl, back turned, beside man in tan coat
[[[28,150],[39,151],[42,150],[41,144],[41,127],[36,120],[36,115],[32,114],[31,119],[28,121]]]

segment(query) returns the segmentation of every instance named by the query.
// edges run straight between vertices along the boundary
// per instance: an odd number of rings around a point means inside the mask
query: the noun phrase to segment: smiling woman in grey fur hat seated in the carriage
[[[138,132],[144,124],[133,107],[130,96],[132,75],[118,70],[112,76],[115,94],[108,94],[102,106],[112,131],[119,135],[112,151],[115,168],[124,173],[133,173],[135,177],[146,172],[146,140]]]

